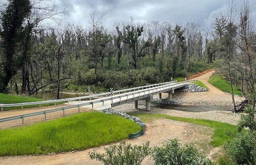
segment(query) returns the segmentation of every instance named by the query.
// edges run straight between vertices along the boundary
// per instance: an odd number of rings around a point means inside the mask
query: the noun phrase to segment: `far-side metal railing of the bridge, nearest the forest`
[[[143,89],[143,88],[153,88],[156,86],[162,86],[165,84],[171,84],[171,83],[175,83],[177,81],[169,81],[169,82],[165,82],[165,83],[159,83],[159,84],[151,84],[151,85],[146,85],[146,86],[141,86],[141,87],[135,87],[135,88],[129,88],[129,89],[123,89],[123,90],[119,90],[119,91],[114,91],[113,94],[116,93],[121,93],[121,92],[131,92],[131,91],[136,91],[139,89]],[[41,102],[30,102],[30,103],[15,103],[15,104],[0,104],[1,107],[1,111],[4,110],[4,107],[12,107],[12,106],[21,106],[21,109],[23,109],[23,106],[29,106],[29,105],[39,105],[39,107],[41,106],[41,104],[45,104],[45,103],[59,103],[59,102],[69,102],[69,101],[75,101],[75,100],[79,100],[81,101],[81,99],[90,99],[90,98],[95,98],[95,97],[99,97],[99,96],[104,96],[104,95],[110,95],[110,92],[105,92],[105,93],[99,93],[99,94],[95,94],[95,95],[87,95],[87,96],[81,96],[81,97],[74,97],[74,98],[68,98],[68,99],[58,99],[58,100],[47,100],[47,101],[41,101]]]

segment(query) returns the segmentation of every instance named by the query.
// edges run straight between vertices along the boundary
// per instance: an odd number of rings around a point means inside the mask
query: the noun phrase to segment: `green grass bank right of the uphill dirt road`
[[[223,92],[231,93],[230,84],[227,83],[226,80],[222,79],[221,75],[210,77],[208,82]],[[233,86],[233,93],[234,95],[242,95],[242,92],[235,86]]]

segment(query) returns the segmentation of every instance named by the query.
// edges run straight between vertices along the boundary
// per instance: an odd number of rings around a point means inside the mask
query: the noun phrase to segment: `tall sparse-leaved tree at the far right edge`
[[[237,40],[235,44],[239,48],[237,61],[242,71],[242,89],[249,96],[249,100],[253,107],[256,102],[256,31],[255,22],[251,17],[251,9],[248,0],[244,0],[244,4],[239,12],[237,22]]]

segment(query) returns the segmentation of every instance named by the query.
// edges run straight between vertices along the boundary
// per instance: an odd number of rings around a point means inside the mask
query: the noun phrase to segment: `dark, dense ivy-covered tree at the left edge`
[[[8,0],[8,6],[1,11],[1,25],[0,32],[1,45],[3,52],[0,54],[1,66],[0,68],[0,92],[6,92],[7,86],[11,77],[26,62],[26,56],[20,54],[17,50],[21,40],[23,39],[26,28],[24,21],[31,11],[29,0]]]

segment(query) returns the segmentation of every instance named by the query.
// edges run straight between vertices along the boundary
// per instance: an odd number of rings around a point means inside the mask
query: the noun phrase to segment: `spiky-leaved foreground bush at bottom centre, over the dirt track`
[[[150,154],[149,142],[143,146],[125,144],[124,140],[119,145],[105,147],[105,154],[90,151],[90,159],[96,159],[104,165],[140,165],[143,159]]]

